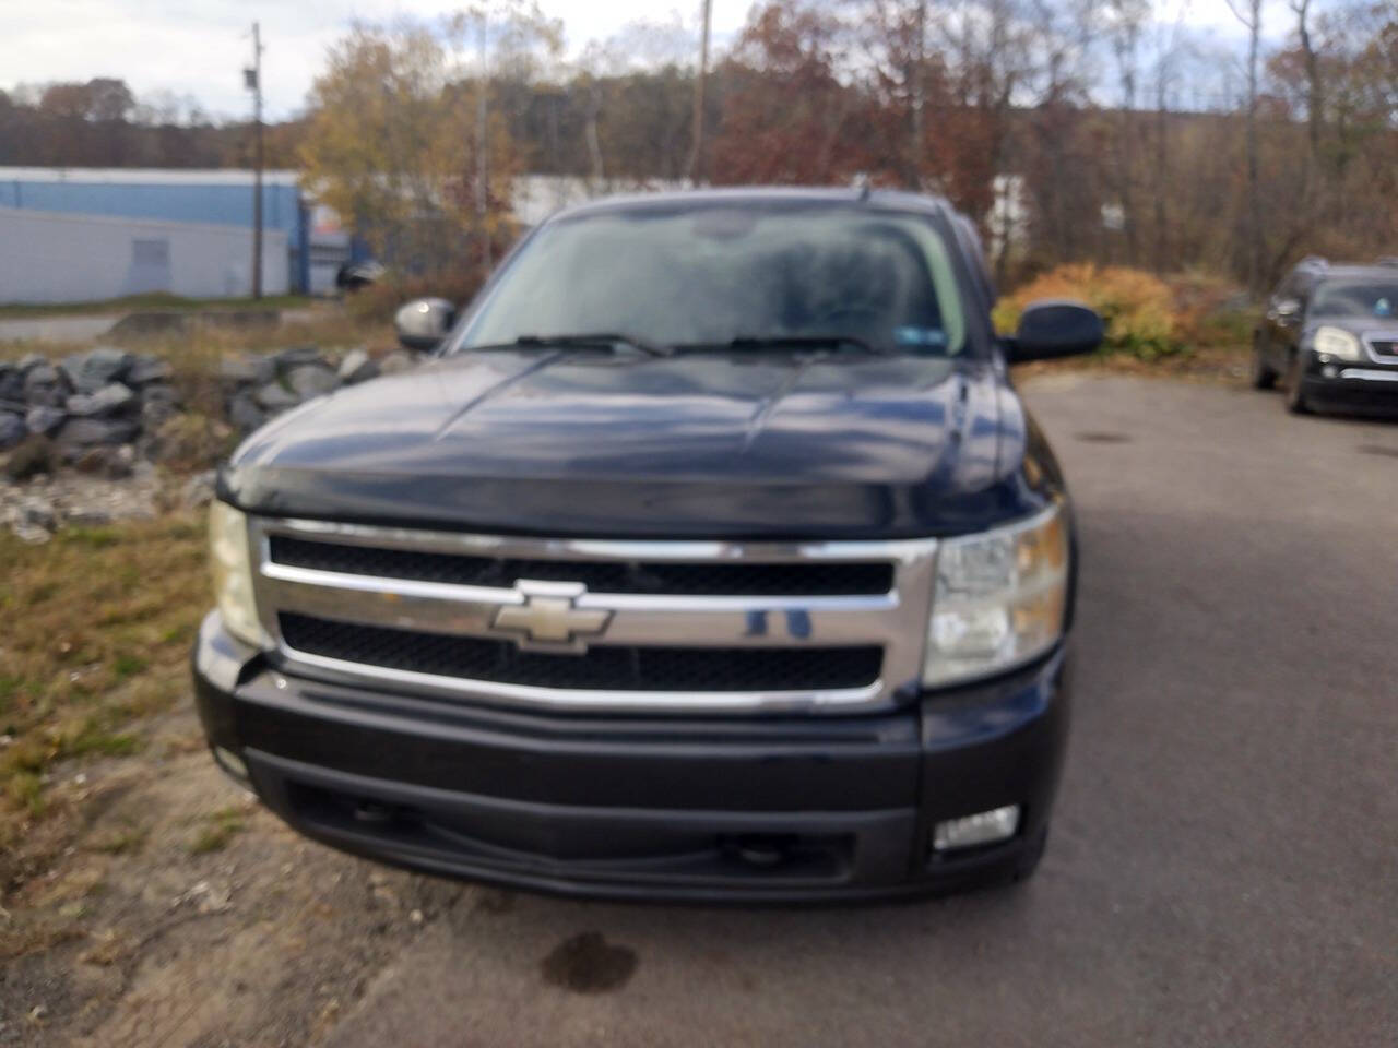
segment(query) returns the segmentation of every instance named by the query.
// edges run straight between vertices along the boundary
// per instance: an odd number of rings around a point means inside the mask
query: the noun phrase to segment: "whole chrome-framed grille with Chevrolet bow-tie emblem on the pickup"
[[[534,539],[252,518],[303,676],[584,710],[850,711],[914,687],[934,539]]]

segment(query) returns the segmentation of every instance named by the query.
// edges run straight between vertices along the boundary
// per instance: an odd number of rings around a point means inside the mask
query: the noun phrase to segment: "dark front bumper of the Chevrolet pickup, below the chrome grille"
[[[562,717],[285,676],[218,613],[194,651],[211,746],[294,829],[417,869],[587,897],[819,901],[970,887],[1043,847],[1067,658],[861,717]],[[1018,803],[1016,836],[932,826]]]

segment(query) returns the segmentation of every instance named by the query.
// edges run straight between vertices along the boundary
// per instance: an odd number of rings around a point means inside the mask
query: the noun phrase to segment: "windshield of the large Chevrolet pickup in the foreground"
[[[461,347],[589,331],[677,348],[846,337],[939,356],[966,341],[945,246],[924,218],[828,205],[554,222],[502,274]]]

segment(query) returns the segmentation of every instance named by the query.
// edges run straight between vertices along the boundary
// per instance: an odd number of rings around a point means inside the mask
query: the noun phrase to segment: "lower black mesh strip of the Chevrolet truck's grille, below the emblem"
[[[535,687],[619,692],[788,692],[863,687],[878,647],[682,648],[596,646],[582,655],[520,651],[512,641],[280,615],[288,647],[386,669]]]

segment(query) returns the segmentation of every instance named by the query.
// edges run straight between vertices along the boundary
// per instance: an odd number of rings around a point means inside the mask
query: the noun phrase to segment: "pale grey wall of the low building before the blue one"
[[[166,291],[252,293],[253,233],[231,225],[0,207],[0,302],[88,302]],[[287,233],[263,233],[263,292],[289,289]]]

